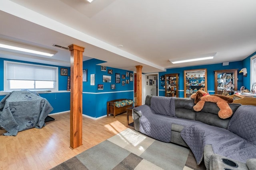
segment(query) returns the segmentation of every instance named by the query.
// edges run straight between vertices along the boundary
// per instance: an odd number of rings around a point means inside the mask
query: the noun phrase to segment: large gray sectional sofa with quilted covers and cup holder
[[[256,106],[229,104],[231,117],[220,119],[215,103],[194,111],[194,99],[147,96],[134,107],[136,131],[189,147],[206,169],[256,170]]]

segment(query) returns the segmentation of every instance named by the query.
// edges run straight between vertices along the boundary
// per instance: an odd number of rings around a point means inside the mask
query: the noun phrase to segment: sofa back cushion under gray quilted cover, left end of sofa
[[[152,96],[150,107],[156,114],[175,116],[174,97]]]

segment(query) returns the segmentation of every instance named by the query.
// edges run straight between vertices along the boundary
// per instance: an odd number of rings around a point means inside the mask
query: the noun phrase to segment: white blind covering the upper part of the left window
[[[6,64],[7,80],[56,81],[56,68],[28,64]]]

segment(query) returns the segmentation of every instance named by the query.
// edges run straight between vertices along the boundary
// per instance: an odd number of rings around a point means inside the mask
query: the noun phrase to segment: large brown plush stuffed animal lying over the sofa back
[[[194,99],[194,104],[196,104],[193,107],[194,111],[201,111],[205,102],[213,102],[220,108],[218,116],[221,119],[227,119],[233,114],[232,109],[228,105],[233,102],[233,99],[227,96],[220,94],[210,95],[202,90],[198,90],[196,93],[191,95],[191,98]]]

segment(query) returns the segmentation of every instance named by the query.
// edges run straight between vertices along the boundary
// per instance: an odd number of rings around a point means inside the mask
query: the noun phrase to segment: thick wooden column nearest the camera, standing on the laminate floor
[[[70,45],[70,147],[82,145],[82,69],[84,47]]]

